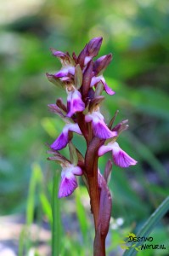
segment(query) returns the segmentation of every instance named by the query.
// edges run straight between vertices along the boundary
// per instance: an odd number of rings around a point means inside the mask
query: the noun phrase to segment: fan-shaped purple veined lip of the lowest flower
[[[69,196],[77,188],[76,177],[71,172],[65,172],[62,174],[61,182],[59,184],[59,195],[58,197]]]

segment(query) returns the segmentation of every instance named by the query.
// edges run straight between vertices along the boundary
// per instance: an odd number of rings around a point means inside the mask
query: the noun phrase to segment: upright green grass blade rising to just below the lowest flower
[[[59,256],[60,249],[60,212],[59,212],[59,199],[58,199],[58,186],[59,186],[59,175],[54,172],[53,180],[53,226],[52,226],[52,256]]]

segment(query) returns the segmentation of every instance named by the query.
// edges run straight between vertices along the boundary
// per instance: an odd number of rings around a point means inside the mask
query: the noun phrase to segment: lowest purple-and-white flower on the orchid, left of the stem
[[[61,182],[59,184],[59,198],[71,195],[77,188],[77,181],[75,175],[82,175],[82,169],[79,166],[63,165],[61,172]]]

